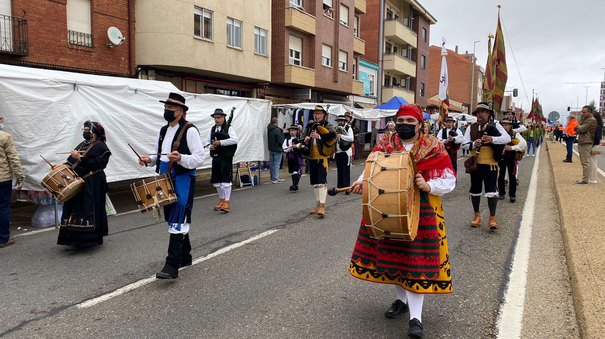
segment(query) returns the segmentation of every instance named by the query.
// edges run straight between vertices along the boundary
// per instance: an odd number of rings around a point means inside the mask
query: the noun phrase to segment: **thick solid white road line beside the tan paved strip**
[[[504,303],[500,306],[496,321],[498,330],[497,339],[519,339],[521,337],[529,250],[531,249],[531,232],[536,202],[535,192],[538,185],[538,163],[540,163],[540,148],[536,152],[531,181],[529,182],[528,196],[525,200],[525,206],[523,206],[523,216],[517,236],[517,246],[512,258],[511,274],[504,292]]]

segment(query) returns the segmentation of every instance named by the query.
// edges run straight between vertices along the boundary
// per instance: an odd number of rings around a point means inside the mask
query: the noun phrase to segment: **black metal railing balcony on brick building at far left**
[[[27,56],[27,20],[0,14],[0,53]]]

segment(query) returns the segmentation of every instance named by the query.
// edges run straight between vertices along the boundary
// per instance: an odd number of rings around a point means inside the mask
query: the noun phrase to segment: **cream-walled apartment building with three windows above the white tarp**
[[[137,0],[135,8],[142,78],[249,98],[269,84],[270,0]]]

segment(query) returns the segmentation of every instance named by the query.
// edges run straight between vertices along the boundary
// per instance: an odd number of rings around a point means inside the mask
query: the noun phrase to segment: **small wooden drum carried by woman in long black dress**
[[[70,166],[59,165],[42,179],[40,185],[53,194],[57,202],[64,203],[84,187],[84,180]]]

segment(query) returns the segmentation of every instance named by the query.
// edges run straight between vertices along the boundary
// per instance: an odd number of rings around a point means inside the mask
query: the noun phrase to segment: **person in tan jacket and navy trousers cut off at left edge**
[[[10,238],[8,218],[10,217],[10,191],[13,176],[17,179],[15,188],[21,189],[25,176],[19,163],[19,154],[13,144],[13,137],[2,131],[4,118],[0,115],[0,247],[15,244],[15,238]]]

